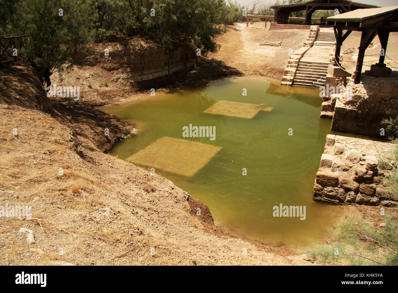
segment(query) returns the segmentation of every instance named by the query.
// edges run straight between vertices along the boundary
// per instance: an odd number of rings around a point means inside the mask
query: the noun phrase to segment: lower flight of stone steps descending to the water
[[[324,87],[329,63],[299,61],[293,85]]]

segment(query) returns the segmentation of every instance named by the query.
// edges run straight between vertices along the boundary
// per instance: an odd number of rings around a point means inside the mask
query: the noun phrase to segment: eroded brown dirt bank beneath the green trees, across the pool
[[[197,57],[192,46],[168,52],[139,37],[88,46],[77,59],[78,65],[51,76],[52,86],[80,87],[79,102],[90,106],[144,99],[151,88],[159,92],[243,75],[222,60]]]

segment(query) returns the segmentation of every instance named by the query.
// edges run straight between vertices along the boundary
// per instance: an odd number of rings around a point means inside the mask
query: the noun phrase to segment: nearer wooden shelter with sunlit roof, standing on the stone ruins
[[[351,31],[361,31],[361,42],[359,44],[357,66],[355,68],[354,83],[361,80],[363,57],[365,50],[376,35],[380,40],[381,50],[378,63],[372,65],[371,71],[391,73],[384,64],[388,36],[392,31],[398,31],[398,6],[358,9],[343,14],[326,18],[326,23],[334,26],[336,36],[335,64],[340,65],[340,49],[343,41]],[[343,30],[346,30],[343,35]]]

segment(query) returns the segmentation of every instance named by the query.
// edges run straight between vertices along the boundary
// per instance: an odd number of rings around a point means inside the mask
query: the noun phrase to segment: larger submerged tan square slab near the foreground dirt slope
[[[126,161],[192,177],[209,163],[220,149],[220,146],[165,136],[128,157]]]

